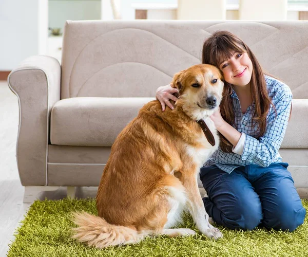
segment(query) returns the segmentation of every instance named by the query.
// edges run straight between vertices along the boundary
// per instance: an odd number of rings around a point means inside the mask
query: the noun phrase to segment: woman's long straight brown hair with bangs
[[[230,58],[234,52],[247,52],[248,57],[253,63],[251,94],[253,101],[255,101],[255,113],[251,125],[257,128],[256,137],[260,138],[266,130],[266,116],[272,100],[267,93],[264,71],[251,49],[235,34],[228,31],[217,31],[206,39],[203,44],[202,63],[219,67],[219,64]],[[232,92],[232,84],[224,81],[220,112],[222,118],[227,123],[235,126],[235,110],[231,98]],[[275,106],[273,107],[275,108]],[[231,153],[233,145],[222,134],[220,134],[220,139],[222,151]]]

